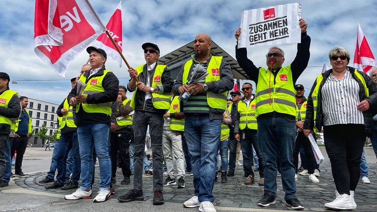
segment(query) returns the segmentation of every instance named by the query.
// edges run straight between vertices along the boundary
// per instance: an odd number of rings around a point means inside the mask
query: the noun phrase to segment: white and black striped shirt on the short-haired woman
[[[364,124],[363,113],[357,109],[359,90],[348,68],[343,79],[330,74],[322,87],[323,125]]]

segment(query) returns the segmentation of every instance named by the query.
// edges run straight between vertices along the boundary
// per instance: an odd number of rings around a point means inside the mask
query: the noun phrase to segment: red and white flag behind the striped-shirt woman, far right
[[[372,50],[368,45],[360,24],[357,25],[356,50],[353,57],[353,67],[357,68],[359,71],[364,71],[364,73],[369,73],[377,68],[375,57],[373,56]]]

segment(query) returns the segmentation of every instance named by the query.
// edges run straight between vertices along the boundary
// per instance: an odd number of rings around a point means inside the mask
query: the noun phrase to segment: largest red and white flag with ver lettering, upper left
[[[67,66],[106,30],[88,0],[36,0],[34,52],[64,77]]]

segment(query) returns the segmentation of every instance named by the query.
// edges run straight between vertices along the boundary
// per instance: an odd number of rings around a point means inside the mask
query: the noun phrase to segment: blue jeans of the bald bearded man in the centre
[[[191,154],[191,173],[194,175],[194,195],[199,202],[215,200],[217,147],[220,142],[221,119],[210,120],[209,115],[185,117],[185,135]]]

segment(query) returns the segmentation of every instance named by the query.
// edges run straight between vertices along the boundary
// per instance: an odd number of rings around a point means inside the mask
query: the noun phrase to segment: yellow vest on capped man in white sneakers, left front
[[[104,74],[101,76],[93,76],[89,79],[89,81],[86,83],[86,77],[84,75],[81,75],[79,81],[86,84],[86,87],[83,91],[83,94],[85,95],[92,95],[96,93],[102,93],[105,92],[104,87],[102,86],[102,81],[104,80],[105,76],[110,73],[109,70],[104,70]],[[86,103],[80,103],[76,106],[76,112],[79,112],[80,105],[82,106],[82,109],[87,113],[105,113],[109,116],[111,116],[111,102],[109,103],[100,103],[100,104],[86,104]]]

